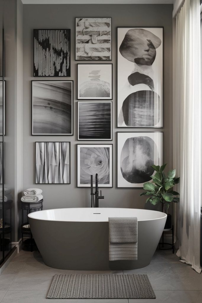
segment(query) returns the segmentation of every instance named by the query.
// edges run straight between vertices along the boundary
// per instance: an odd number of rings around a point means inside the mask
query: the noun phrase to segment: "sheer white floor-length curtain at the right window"
[[[180,176],[177,256],[200,273],[200,0],[182,4],[176,15],[175,38],[174,165]]]

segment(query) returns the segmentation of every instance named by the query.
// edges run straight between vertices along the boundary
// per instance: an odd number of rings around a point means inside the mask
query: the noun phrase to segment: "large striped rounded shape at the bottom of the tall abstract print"
[[[134,92],[124,100],[122,112],[128,127],[157,125],[160,120],[160,97],[150,90]]]

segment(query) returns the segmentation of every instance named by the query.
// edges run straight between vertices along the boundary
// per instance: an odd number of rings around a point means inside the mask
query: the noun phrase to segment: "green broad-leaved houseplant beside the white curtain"
[[[146,182],[143,185],[145,189],[140,195],[149,196],[146,202],[150,202],[153,205],[158,203],[162,204],[162,212],[167,214],[170,203],[179,202],[179,195],[177,191],[173,190],[173,186],[179,183],[180,178],[176,178],[176,170],[171,169],[168,171],[167,176],[164,174],[164,169],[167,164],[162,166],[151,165],[151,167],[156,171],[155,175],[151,176],[152,182]],[[171,221],[171,217],[167,220]]]

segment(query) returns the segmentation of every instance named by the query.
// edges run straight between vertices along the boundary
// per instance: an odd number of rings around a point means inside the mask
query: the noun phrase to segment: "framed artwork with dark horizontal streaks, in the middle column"
[[[112,102],[77,102],[78,140],[112,140]]]

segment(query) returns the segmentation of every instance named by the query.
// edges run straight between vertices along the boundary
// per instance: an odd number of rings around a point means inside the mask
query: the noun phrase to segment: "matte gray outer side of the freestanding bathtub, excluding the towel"
[[[46,265],[69,270],[127,270],[150,264],[166,217],[138,221],[137,261],[109,261],[108,222],[28,220]]]

